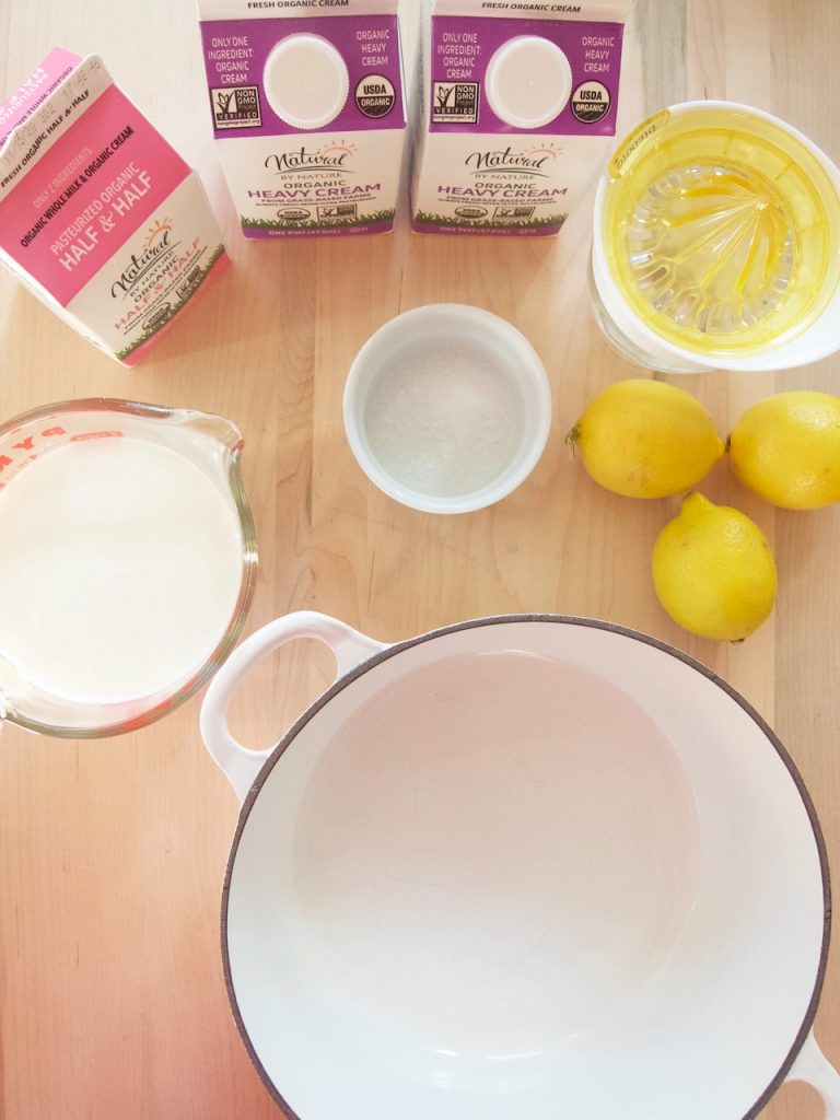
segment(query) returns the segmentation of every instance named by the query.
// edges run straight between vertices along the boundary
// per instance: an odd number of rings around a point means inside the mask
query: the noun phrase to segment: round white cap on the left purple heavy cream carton
[[[319,35],[289,35],[265,60],[269,104],[296,129],[321,129],[340,113],[349,92],[344,58]]]

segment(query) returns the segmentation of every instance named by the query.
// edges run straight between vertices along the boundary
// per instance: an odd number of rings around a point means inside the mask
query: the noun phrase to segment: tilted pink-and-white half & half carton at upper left
[[[56,48],[0,106],[0,260],[133,365],[227,258],[195,172],[101,58]]]

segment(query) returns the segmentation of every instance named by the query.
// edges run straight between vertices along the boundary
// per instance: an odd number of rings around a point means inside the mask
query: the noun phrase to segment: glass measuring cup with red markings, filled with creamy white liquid
[[[221,417],[104,398],[0,426],[0,717],[118,735],[212,676],[256,576],[242,444]]]

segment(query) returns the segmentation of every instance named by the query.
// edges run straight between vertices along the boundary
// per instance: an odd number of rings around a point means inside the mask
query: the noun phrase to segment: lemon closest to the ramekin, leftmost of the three
[[[597,483],[627,497],[682,494],[724,454],[711,417],[690,393],[634,377],[592,398],[566,440]]]

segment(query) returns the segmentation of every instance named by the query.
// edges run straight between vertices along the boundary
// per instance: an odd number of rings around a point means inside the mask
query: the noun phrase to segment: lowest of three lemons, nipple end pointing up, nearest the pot
[[[740,510],[689,494],[653,547],[653,586],[684,629],[740,642],[776,599],[776,563],[758,525]]]

